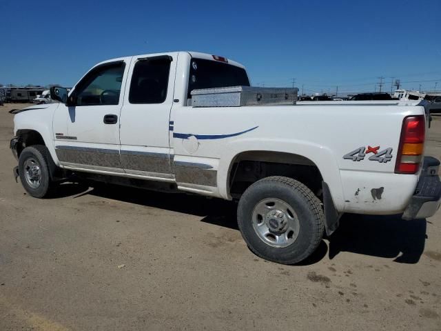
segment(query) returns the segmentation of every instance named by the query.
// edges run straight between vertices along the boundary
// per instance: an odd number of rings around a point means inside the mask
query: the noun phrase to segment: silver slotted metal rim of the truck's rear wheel
[[[260,240],[276,248],[294,243],[300,230],[294,209],[285,201],[276,198],[263,199],[256,204],[252,223]]]

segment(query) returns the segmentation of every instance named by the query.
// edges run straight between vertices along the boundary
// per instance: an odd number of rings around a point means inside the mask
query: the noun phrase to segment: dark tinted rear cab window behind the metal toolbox
[[[189,72],[188,98],[192,90],[200,88],[249,86],[245,69],[224,62],[192,59]]]

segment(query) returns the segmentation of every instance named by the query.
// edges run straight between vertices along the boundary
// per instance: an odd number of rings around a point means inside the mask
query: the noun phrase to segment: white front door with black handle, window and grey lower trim
[[[57,157],[65,168],[123,172],[119,117],[130,58],[92,68],[54,115]]]

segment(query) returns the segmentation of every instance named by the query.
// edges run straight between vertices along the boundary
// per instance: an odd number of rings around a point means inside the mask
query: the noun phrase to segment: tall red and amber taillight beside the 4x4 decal
[[[418,172],[424,151],[425,131],[424,115],[404,117],[395,165],[396,174]]]

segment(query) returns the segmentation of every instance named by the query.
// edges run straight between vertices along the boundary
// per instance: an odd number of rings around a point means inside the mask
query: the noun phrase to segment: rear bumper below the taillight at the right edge
[[[440,208],[441,181],[438,176],[440,161],[424,157],[420,180],[409,205],[402,214],[403,219],[425,219]]]

